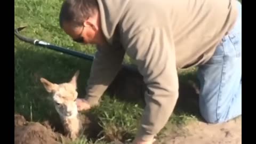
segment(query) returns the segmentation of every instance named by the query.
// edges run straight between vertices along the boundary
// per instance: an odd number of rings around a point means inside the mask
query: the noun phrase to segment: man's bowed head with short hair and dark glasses
[[[59,21],[60,27],[75,42],[103,42],[97,0],[65,0],[61,6]]]

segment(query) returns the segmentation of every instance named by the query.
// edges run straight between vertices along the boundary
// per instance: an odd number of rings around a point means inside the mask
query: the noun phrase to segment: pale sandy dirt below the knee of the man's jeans
[[[242,143],[242,117],[223,124],[192,122],[155,143],[168,144],[240,144]]]

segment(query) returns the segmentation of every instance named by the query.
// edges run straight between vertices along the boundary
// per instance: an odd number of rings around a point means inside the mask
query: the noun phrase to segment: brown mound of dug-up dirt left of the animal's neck
[[[58,135],[40,123],[29,123],[18,114],[14,115],[15,144],[60,144]]]

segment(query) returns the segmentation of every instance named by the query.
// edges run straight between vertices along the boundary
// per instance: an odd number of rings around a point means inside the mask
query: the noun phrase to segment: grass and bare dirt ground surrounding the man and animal
[[[62,0],[15,0],[15,28],[28,26],[21,31],[27,37],[41,39],[54,45],[94,54],[93,45],[80,45],[71,41],[59,27],[58,15]],[[14,40],[14,109],[15,143],[68,143],[62,135],[63,127],[53,103],[40,77],[62,83],[76,70],[78,97],[84,97],[86,79],[91,62]],[[131,63],[125,58],[126,63]],[[221,125],[207,125],[198,110],[198,83],[196,68],[179,71],[180,97],[174,113],[166,127],[158,135],[158,143],[241,143],[241,120]],[[143,110],[142,78],[127,71],[121,71],[109,87],[101,105],[83,115],[88,123],[84,137],[79,144],[108,143],[114,139],[129,141],[134,138],[137,124]],[[26,120],[25,120],[26,119]],[[101,134],[99,134],[101,133]],[[99,134],[99,135],[98,135]],[[62,137],[61,137],[62,135]],[[186,136],[186,137],[185,137]]]

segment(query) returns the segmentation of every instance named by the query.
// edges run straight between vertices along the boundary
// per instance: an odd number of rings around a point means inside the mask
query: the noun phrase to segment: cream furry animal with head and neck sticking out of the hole
[[[77,99],[77,77],[79,70],[67,83],[55,84],[45,78],[40,78],[45,90],[52,94],[52,100],[55,105],[63,127],[71,140],[75,140],[82,130],[82,123],[76,105]]]

